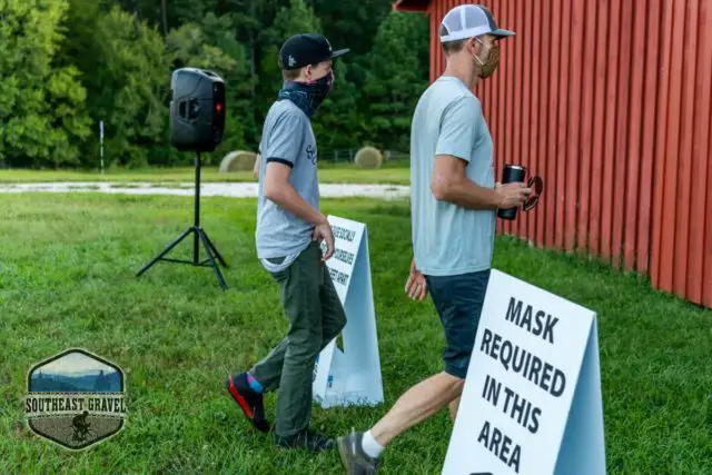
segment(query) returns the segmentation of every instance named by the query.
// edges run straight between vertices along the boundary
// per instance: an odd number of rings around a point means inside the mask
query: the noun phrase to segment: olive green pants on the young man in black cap
[[[271,273],[281,289],[289,330],[249,370],[265,392],[279,388],[275,434],[280,437],[295,435],[309,425],[316,357],[346,325],[328,267],[320,259],[319,245],[312,243],[289,267]]]

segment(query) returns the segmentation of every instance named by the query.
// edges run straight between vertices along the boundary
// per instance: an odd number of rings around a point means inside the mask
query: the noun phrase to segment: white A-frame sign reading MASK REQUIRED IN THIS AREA
[[[605,475],[596,314],[492,270],[444,475]]]

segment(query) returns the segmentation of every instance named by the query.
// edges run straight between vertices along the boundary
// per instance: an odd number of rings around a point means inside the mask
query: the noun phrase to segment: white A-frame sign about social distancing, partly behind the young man
[[[322,407],[383,403],[376,313],[370,283],[366,225],[328,217],[334,255],[326,265],[346,310],[344,349],[335,338],[319,354],[313,393]]]

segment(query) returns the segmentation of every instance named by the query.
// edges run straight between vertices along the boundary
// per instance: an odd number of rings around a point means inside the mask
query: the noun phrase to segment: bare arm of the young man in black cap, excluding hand
[[[328,224],[326,217],[306,202],[294,189],[289,182],[290,172],[291,168],[287,165],[276,161],[267,164],[265,170],[265,198],[307,222],[317,226]]]

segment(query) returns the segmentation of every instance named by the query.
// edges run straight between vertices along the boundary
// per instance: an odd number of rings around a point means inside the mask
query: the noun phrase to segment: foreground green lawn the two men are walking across
[[[336,453],[277,451],[250,431],[222,379],[260,358],[286,321],[255,258],[254,200],[206,198],[202,222],[230,268],[160,263],[135,273],[192,220],[192,198],[8,195],[0,210],[0,473],[340,474]],[[411,261],[407,202],[324,200],[368,225],[385,406],[315,408],[313,426],[367,428],[409,386],[442,369],[431,300],[403,291]],[[188,257],[184,243],[172,257]],[[712,311],[631,275],[573,256],[497,243],[495,267],[599,313],[611,474],[712,473]],[[127,374],[123,432],[83,453],[23,423],[29,368],[85,347]],[[274,414],[275,396],[267,398]],[[384,474],[438,474],[452,424],[442,412],[384,455]]]

